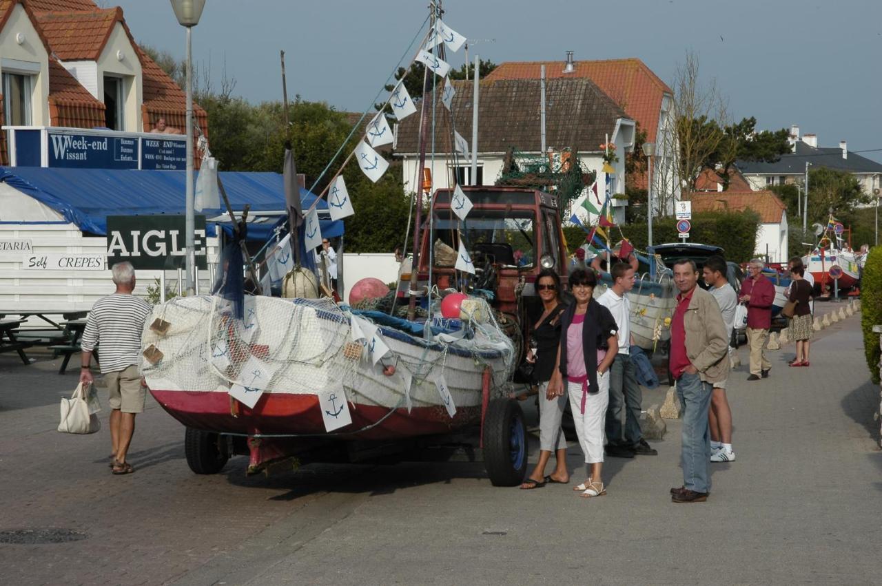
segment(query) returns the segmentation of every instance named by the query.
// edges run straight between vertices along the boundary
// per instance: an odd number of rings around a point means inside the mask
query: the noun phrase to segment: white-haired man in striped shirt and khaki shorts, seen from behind
[[[89,362],[92,351],[101,343],[101,374],[110,393],[110,441],[113,443],[114,474],[135,471],[126,462],[131,436],[135,433],[135,415],[144,411],[146,390],[141,386],[138,362],[141,331],[152,309],[135,297],[135,270],[131,263],[116,263],[111,269],[116,292],[95,301],[86,330],[83,331],[83,358],[79,382],[91,384]]]

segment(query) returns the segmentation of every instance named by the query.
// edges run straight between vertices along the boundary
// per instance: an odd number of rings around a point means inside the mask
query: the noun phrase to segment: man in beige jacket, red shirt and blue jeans
[[[683,404],[683,486],[671,488],[674,502],[703,502],[711,489],[707,411],[714,382],[729,374],[729,337],[714,297],[697,286],[699,271],[689,259],[674,263],[680,294],[670,323],[670,372]]]

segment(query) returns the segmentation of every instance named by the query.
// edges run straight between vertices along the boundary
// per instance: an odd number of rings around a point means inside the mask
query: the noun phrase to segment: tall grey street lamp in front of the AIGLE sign
[[[187,29],[187,187],[184,204],[186,206],[186,233],[185,234],[185,272],[187,294],[196,292],[193,286],[193,267],[196,265],[196,247],[194,237],[196,232],[193,213],[193,58],[192,58],[192,32],[193,26],[199,24],[202,9],[206,7],[206,0],[170,0],[172,10],[175,11],[177,22]]]

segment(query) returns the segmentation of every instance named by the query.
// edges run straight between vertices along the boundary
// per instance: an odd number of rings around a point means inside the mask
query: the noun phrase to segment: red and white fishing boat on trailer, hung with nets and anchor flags
[[[449,69],[443,61],[445,51],[456,51],[465,41],[440,20],[439,4],[431,3],[428,32],[410,62],[426,65],[426,88],[434,85],[430,83],[434,76],[445,78]],[[389,108],[399,120],[416,112],[406,96],[401,84],[390,94]],[[422,116],[427,120],[426,101],[422,100]],[[388,167],[372,148],[386,144],[379,137],[391,135],[380,132],[381,127],[388,127],[383,113],[375,115],[343,163],[345,167],[355,160],[374,182]],[[421,143],[426,145],[425,132]],[[284,168],[286,182],[293,184],[289,148]],[[424,147],[421,152],[422,168]],[[341,171],[321,197],[333,186],[335,201],[345,201],[340,197],[347,193]],[[288,191],[297,193],[297,189]],[[283,297],[290,299],[243,296],[241,287],[235,290],[231,284],[242,282],[243,262],[235,262],[239,253],[234,243],[232,256],[220,271],[221,293],[160,304],[146,322],[142,372],[153,397],[186,427],[185,453],[191,469],[218,472],[233,454],[250,456],[250,473],[268,471],[275,464],[289,467],[292,461],[362,461],[401,454],[432,438],[452,441],[458,433],[469,433],[479,439],[469,446],[468,454],[474,458],[475,451],[482,449],[493,484],[519,483],[526,471],[527,445],[523,414],[509,398],[518,357],[508,334],[517,338],[519,330],[517,312],[508,313],[512,304],[507,295],[514,288],[510,268],[499,259],[483,259],[488,269],[484,277],[490,273],[499,277],[498,282],[493,278],[492,288],[499,293],[491,295],[494,307],[480,295],[445,292],[453,293],[447,298],[457,300],[455,315],[449,314],[449,308],[439,312],[438,287],[455,283],[465,290],[468,279],[463,275],[476,273],[468,251],[477,257],[482,248],[478,241],[465,247],[470,241],[458,235],[465,232],[461,219],[445,226],[444,234],[453,233],[452,240],[461,242],[454,254],[455,266],[428,271],[426,286],[417,286],[416,267],[428,268],[430,245],[441,234],[431,221],[422,226],[423,194],[418,193],[407,318],[391,311],[352,308],[331,297],[318,299],[316,276],[301,266],[301,256],[305,261],[321,241],[320,234],[315,240],[318,221],[313,223],[313,210],[302,211],[290,194],[286,193],[289,241],[297,266],[282,283]],[[530,192],[529,197],[535,217],[538,196]],[[448,213],[449,208],[448,201]],[[353,213],[351,206],[348,212],[340,211],[343,216]],[[437,211],[430,207],[430,216],[433,213]],[[257,282],[250,261],[245,265]],[[514,271],[517,278],[530,272],[518,267]],[[534,263],[533,272],[538,271]],[[270,289],[266,286],[264,292]]]

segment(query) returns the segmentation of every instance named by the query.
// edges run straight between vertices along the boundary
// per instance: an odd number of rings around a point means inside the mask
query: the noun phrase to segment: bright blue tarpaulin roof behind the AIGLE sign
[[[107,234],[108,216],[183,214],[185,171],[126,171],[116,169],[64,169],[45,167],[0,167],[0,182],[34,197],[76,224],[83,232]],[[285,192],[278,173],[219,173],[234,211],[250,204],[250,216],[261,211],[284,211]],[[303,209],[316,200],[306,189],[300,190]],[[318,202],[319,210],[327,203]],[[226,210],[203,210],[212,218]],[[266,241],[275,222],[249,226],[249,240]],[[321,222],[322,234],[343,234],[341,221]],[[209,235],[214,226],[209,223]],[[265,234],[264,234],[265,233]]]

